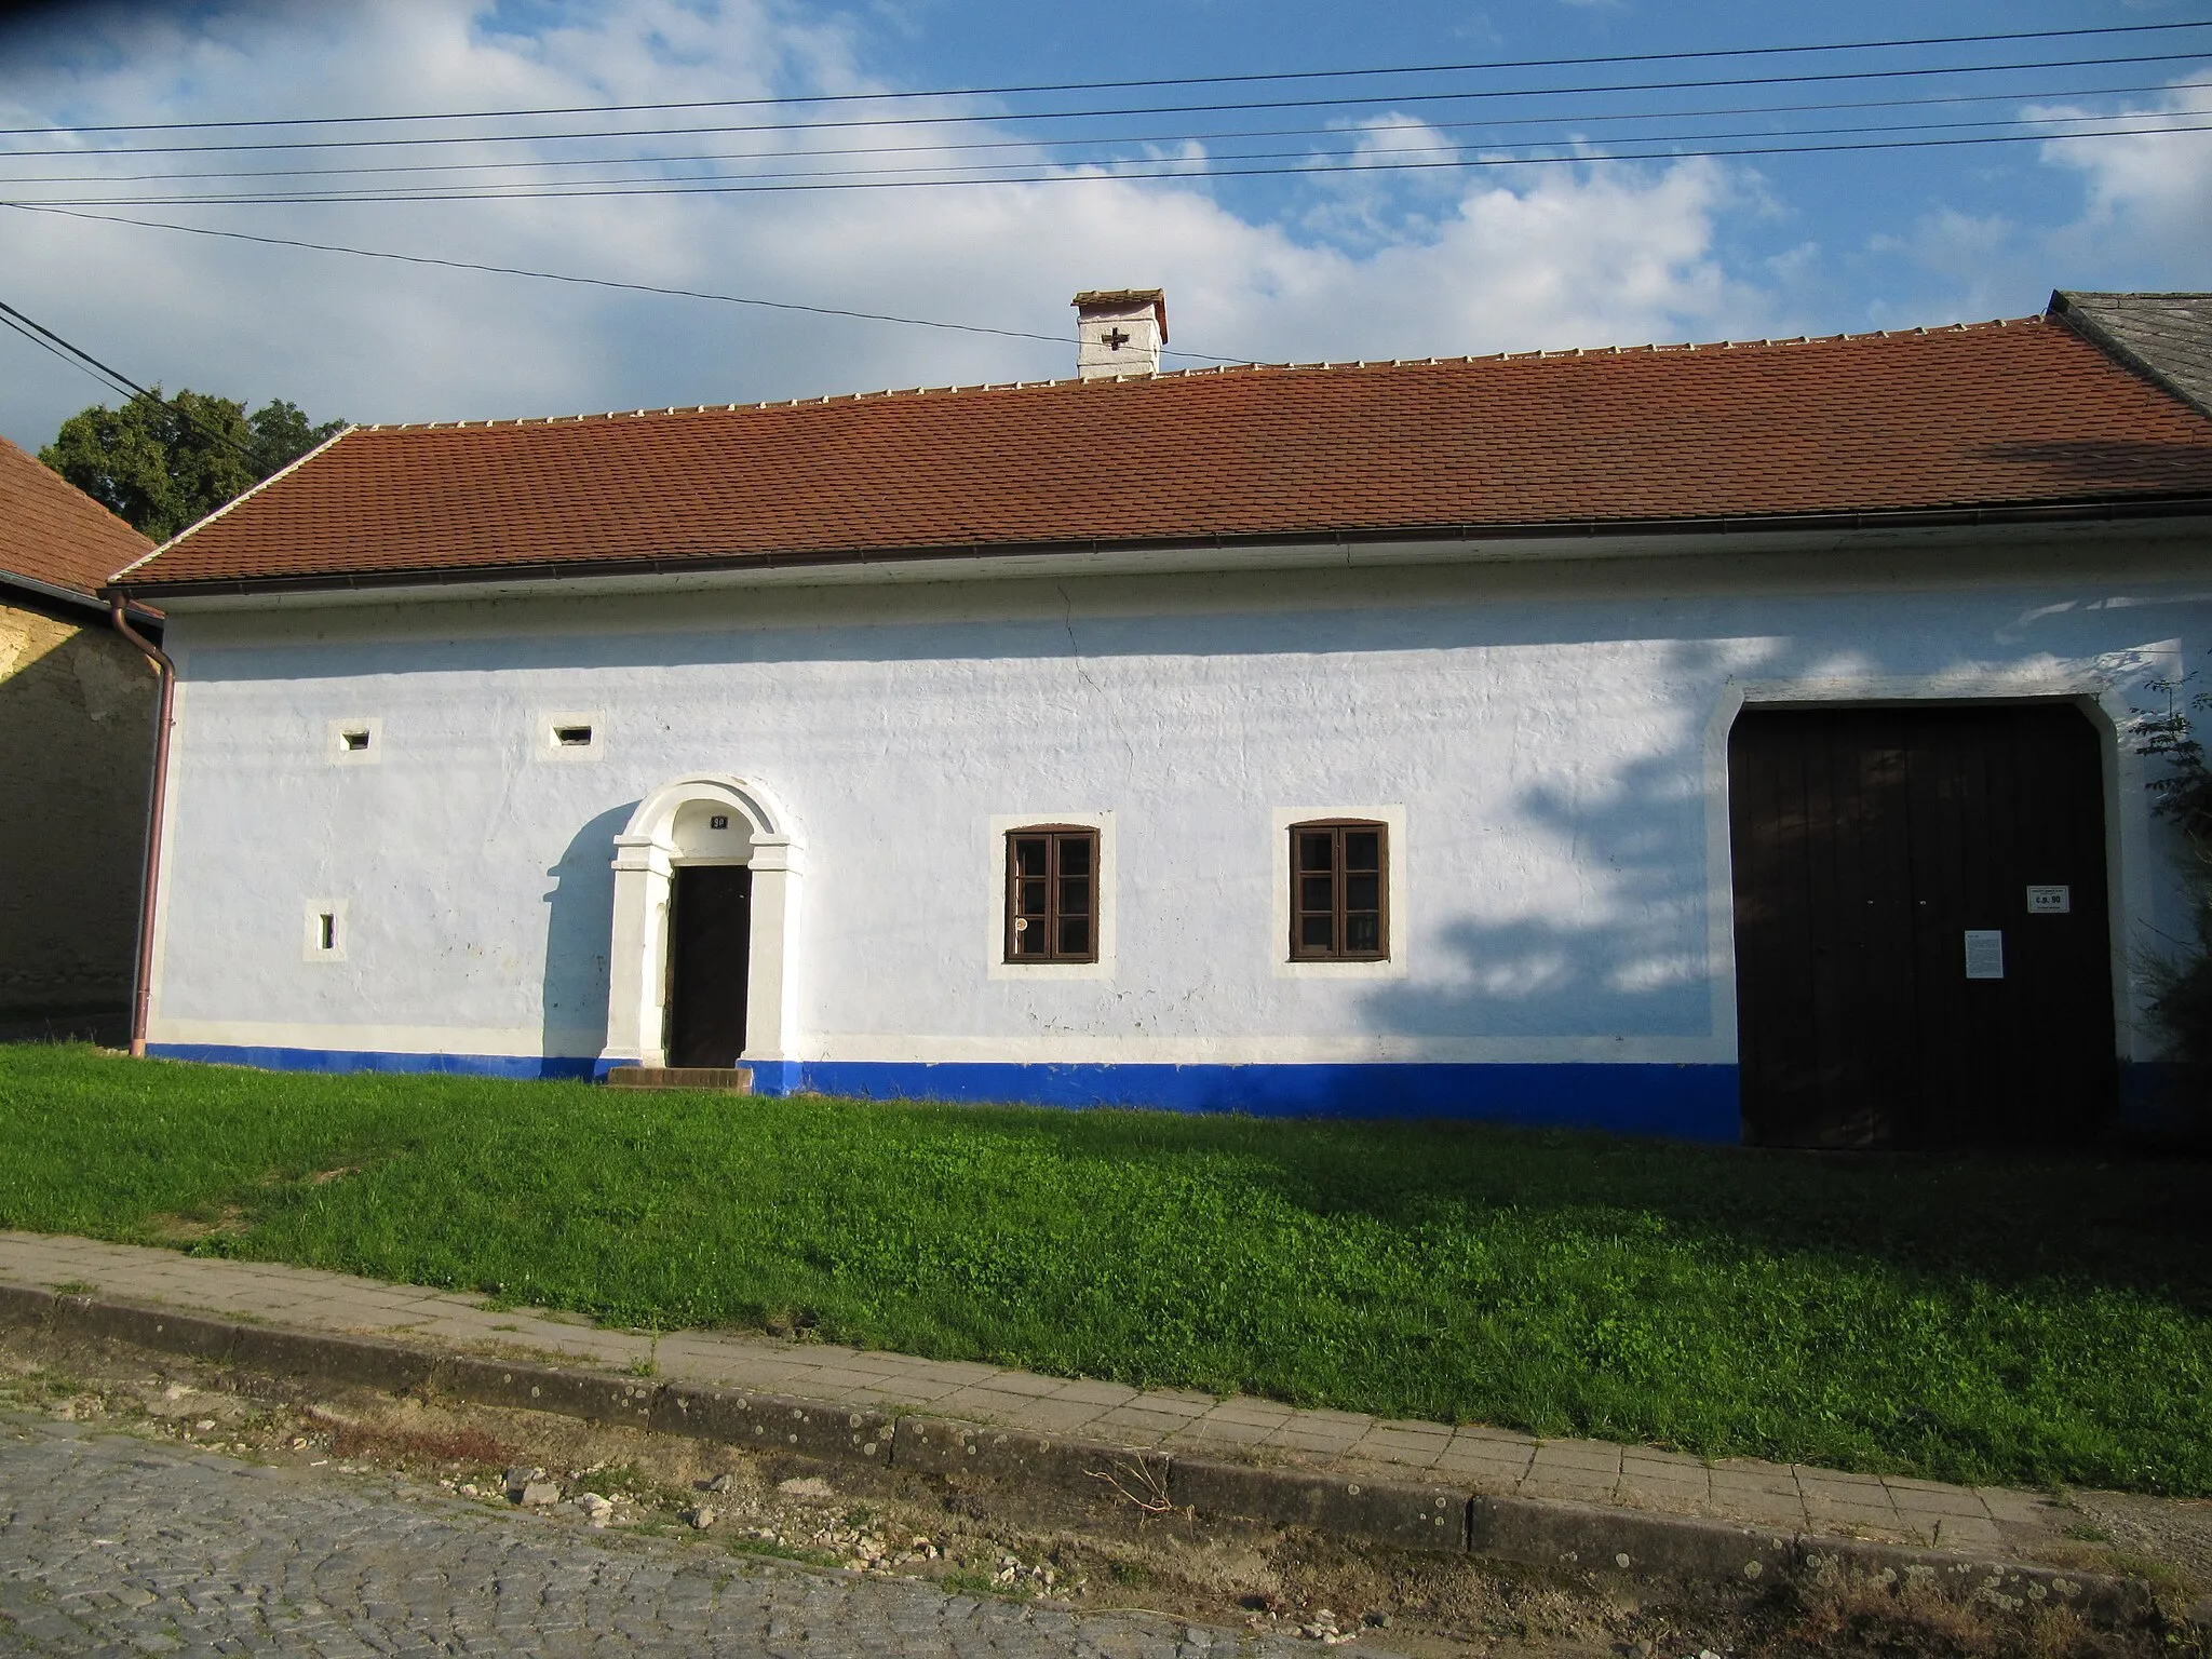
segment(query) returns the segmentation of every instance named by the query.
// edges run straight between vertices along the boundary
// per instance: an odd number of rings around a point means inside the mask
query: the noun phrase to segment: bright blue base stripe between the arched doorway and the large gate
[[[1254,1117],[1482,1119],[1697,1141],[1743,1137],[1734,1066],[1022,1066],[810,1060],[805,1088],[869,1099],[1155,1106]]]

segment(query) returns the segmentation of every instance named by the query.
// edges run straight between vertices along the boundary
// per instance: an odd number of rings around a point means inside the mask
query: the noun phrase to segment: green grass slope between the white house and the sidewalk
[[[352,1168],[316,1183],[316,1172]],[[2212,1168],[0,1048],[0,1225],[657,1329],[2212,1493]]]

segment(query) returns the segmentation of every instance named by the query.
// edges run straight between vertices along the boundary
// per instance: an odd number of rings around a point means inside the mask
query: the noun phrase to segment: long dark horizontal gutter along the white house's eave
[[[259,595],[330,593],[376,588],[447,588],[480,582],[557,582],[571,577],[697,575],[708,571],[794,571],[854,564],[918,564],[929,560],[1037,557],[1053,553],[1172,553],[1181,549],[1354,546],[1374,542],[1555,542],[1619,535],[1776,535],[1812,531],[1885,529],[1980,529],[1995,524],[2112,524],[2126,520],[2212,518],[2212,495],[2135,495],[2073,502],[2015,502],[2004,507],[1905,507],[1840,513],[1743,513],[1730,518],[1659,520],[1535,520],[1522,524],[1427,524],[1391,529],[1314,529],[1250,535],[1128,535],[1068,538],[1053,542],[945,542],[885,549],[792,549],[728,555],[644,555],[582,560],[518,560],[513,564],[327,571],[316,575],[217,577],[186,582],[133,582],[131,595]],[[175,546],[175,544],[170,544]],[[159,551],[159,549],[157,549]],[[153,557],[153,555],[148,555]],[[133,566],[137,568],[137,566]],[[126,573],[128,575],[128,573]],[[122,582],[111,593],[124,588]]]

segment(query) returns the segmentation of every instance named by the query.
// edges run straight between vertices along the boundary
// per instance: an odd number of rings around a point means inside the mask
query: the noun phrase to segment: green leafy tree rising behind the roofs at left
[[[316,427],[283,398],[248,416],[230,398],[190,387],[164,398],[155,387],[122,409],[80,409],[38,458],[133,529],[166,542],[343,425]]]

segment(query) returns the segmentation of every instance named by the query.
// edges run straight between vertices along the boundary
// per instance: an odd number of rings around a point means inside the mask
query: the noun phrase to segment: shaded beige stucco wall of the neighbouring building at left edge
[[[155,675],[0,595],[0,1035],[124,1035]]]

